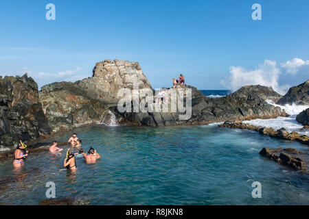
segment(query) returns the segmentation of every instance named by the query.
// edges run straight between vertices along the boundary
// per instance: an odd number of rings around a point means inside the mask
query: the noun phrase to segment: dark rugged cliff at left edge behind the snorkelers
[[[0,145],[13,146],[50,132],[36,82],[27,75],[1,78]]]

